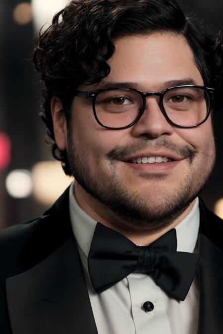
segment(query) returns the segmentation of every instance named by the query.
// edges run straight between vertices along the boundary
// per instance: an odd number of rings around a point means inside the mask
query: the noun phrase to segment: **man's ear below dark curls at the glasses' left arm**
[[[52,97],[51,114],[53,118],[54,135],[58,148],[61,151],[66,149],[66,120],[62,103],[57,97]]]

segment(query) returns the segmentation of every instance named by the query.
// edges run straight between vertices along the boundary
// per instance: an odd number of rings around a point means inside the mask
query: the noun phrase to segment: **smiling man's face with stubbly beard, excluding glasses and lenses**
[[[188,80],[204,85],[180,35],[129,36],[119,39],[115,48],[110,75],[98,86],[79,90],[97,90],[108,83],[135,83],[143,92],[160,92]],[[215,143],[211,117],[197,128],[180,129],[167,122],[158,96],[146,100],[134,126],[108,130],[95,120],[92,102],[75,97],[66,147],[78,182],[77,197],[82,191],[87,205],[114,224],[152,230],[167,226],[203,188],[215,162]],[[132,160],[158,156],[173,161]]]

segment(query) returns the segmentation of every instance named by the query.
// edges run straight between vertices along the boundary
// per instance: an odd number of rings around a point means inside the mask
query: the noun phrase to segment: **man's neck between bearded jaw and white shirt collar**
[[[116,215],[89,195],[77,182],[74,183],[74,195],[79,206],[95,221],[122,234],[138,245],[148,245],[178,225],[192,210],[195,200],[170,224],[157,231],[140,230],[125,225]]]

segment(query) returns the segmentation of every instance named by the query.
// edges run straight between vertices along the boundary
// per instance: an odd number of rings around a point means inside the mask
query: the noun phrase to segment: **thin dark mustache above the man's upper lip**
[[[139,150],[147,149],[163,149],[166,148],[172,153],[176,153],[182,158],[188,158],[192,162],[197,150],[189,144],[181,145],[172,143],[166,138],[158,138],[156,140],[142,140],[139,143],[132,143],[128,145],[117,145],[108,154],[108,159],[124,159],[129,155],[137,153]]]

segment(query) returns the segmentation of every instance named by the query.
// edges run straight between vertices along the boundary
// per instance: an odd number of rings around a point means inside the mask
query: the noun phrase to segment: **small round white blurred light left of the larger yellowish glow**
[[[32,175],[26,169],[15,169],[7,175],[5,187],[12,197],[28,197],[33,189]]]

